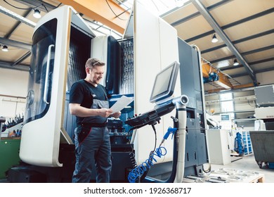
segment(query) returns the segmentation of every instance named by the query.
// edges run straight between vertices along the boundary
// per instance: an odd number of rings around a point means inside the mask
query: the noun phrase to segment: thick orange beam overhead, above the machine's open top
[[[107,27],[123,34],[129,12],[111,0],[59,0],[72,6],[77,12],[96,20]]]

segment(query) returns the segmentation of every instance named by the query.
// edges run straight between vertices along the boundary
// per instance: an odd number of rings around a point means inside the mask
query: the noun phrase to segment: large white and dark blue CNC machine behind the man
[[[103,85],[110,106],[121,96],[133,98],[133,102],[122,110],[119,120],[108,121],[113,158],[111,181],[128,182],[131,170],[148,158],[155,143],[160,142],[154,140],[163,139],[169,127],[183,127],[185,135],[185,148],[178,150],[178,158],[182,160],[178,165],[180,169],[176,170],[181,173],[178,182],[188,175],[202,174],[208,155],[200,51],[197,46],[189,46],[178,39],[174,27],[136,1],[124,36],[119,40],[96,35],[70,6],[57,8],[39,20],[33,34],[29,91],[20,145],[23,167],[10,170],[11,182],[26,182],[20,179],[25,174],[41,177],[28,179],[29,182],[71,181],[75,117],[68,110],[68,95],[71,85],[85,77],[84,64],[89,57],[106,63]],[[157,73],[173,63],[178,63],[178,77],[169,99],[183,104],[185,116],[177,122],[185,121],[185,125],[179,123],[178,126],[171,118],[177,115],[175,104],[159,113],[153,119],[155,124],[138,128],[129,124],[129,120],[136,120],[134,118],[161,106],[159,102],[150,102],[148,92],[153,89]],[[169,101],[164,105],[169,106]],[[172,173],[174,143],[173,140],[164,142],[167,154],[157,159],[148,176],[160,176],[159,179],[164,180]],[[146,179],[146,182],[156,181]]]

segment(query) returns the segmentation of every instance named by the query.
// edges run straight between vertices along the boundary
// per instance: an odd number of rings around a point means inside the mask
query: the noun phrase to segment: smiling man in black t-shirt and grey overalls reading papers
[[[76,115],[74,132],[76,164],[72,182],[90,182],[93,164],[96,165],[96,182],[110,182],[111,150],[107,117],[112,113],[105,87],[100,84],[105,63],[96,58],[86,61],[86,78],[72,84],[70,113]]]

